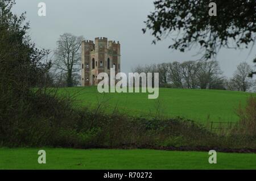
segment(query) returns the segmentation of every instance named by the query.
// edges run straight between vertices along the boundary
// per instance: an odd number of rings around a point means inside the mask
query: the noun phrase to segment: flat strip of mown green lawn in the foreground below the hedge
[[[46,150],[46,164],[38,163],[35,148],[0,148],[0,169],[256,169],[256,154],[162,150]]]

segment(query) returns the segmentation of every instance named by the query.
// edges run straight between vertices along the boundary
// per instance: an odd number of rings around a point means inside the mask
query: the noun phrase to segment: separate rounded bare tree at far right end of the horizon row
[[[238,91],[249,90],[253,86],[253,80],[249,77],[251,71],[253,71],[251,66],[246,62],[239,64],[233,78],[230,80],[232,89]]]

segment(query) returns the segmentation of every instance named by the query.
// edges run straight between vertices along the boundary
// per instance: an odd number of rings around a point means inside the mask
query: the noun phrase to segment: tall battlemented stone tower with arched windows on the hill
[[[97,76],[105,72],[110,76],[110,68],[115,68],[115,75],[120,72],[119,41],[108,41],[106,37],[96,37],[95,41],[82,41],[82,86],[98,84]]]

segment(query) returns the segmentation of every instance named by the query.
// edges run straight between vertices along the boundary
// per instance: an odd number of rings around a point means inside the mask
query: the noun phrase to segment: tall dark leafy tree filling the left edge
[[[25,136],[25,125],[29,121],[26,115],[34,103],[31,87],[42,85],[51,64],[42,64],[48,51],[30,43],[24,14],[18,17],[11,12],[14,3],[13,0],[0,1],[0,134],[1,139],[5,139],[22,132],[24,136],[19,136],[29,140]]]

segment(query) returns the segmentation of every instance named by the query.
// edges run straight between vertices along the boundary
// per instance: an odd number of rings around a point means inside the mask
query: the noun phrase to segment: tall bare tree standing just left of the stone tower
[[[55,50],[55,65],[61,71],[67,73],[67,86],[73,86],[73,73],[81,69],[81,42],[82,36],[71,33],[60,35]]]

